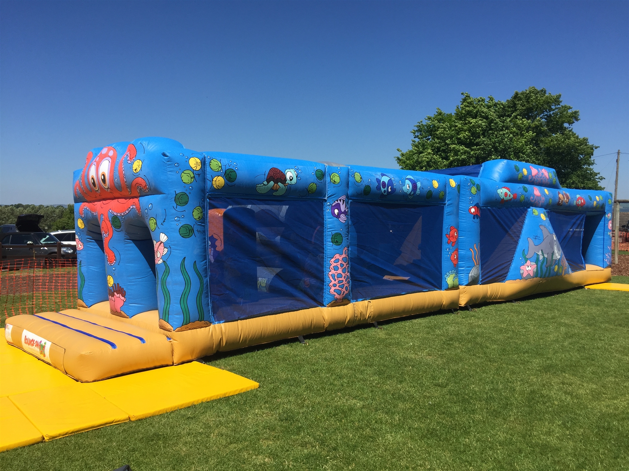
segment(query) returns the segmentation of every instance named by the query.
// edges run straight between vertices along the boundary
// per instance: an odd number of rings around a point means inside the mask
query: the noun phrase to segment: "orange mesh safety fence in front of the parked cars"
[[[4,259],[0,263],[0,321],[77,307],[76,259]]]

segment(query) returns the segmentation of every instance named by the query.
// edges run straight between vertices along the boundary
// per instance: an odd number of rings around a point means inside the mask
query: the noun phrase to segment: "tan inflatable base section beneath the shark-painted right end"
[[[610,281],[611,268],[586,265],[586,269],[565,276],[532,278],[505,281],[504,283],[459,286],[459,306],[485,303],[487,301],[511,301],[525,296],[551,291],[570,290],[586,284]]]

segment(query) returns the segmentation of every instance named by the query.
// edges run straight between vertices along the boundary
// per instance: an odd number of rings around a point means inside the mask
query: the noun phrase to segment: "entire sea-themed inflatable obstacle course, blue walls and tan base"
[[[79,381],[608,281],[611,195],[493,160],[432,172],[92,149],[74,174],[77,310],[6,322]]]

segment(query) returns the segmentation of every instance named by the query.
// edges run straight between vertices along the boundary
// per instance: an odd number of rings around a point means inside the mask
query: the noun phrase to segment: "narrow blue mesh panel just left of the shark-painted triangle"
[[[528,208],[482,208],[481,284],[502,283],[509,273]]]

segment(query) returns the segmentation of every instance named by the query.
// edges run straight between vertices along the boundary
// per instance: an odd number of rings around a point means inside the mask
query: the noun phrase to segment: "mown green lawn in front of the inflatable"
[[[628,305],[574,290],[216,355],[260,388],[0,453],[0,468],[627,468]]]

